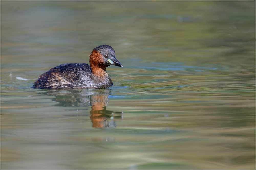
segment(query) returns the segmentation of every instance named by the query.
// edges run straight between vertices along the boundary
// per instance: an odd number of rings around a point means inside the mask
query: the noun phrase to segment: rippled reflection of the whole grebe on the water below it
[[[90,119],[94,128],[114,128],[115,120],[123,118],[123,112],[107,110],[109,103],[109,89],[95,89],[92,91],[47,91],[44,95],[54,95],[52,101],[58,102],[55,106],[84,107],[91,106]],[[76,110],[76,109],[74,109]],[[86,109],[87,110],[87,109]],[[74,116],[74,115],[72,115]]]

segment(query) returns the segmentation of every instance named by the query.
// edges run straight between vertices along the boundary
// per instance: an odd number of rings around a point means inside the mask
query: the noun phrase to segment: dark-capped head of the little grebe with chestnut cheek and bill
[[[108,67],[110,65],[123,67],[115,58],[115,50],[109,45],[100,45],[94,48],[90,55],[90,64],[99,67]]]

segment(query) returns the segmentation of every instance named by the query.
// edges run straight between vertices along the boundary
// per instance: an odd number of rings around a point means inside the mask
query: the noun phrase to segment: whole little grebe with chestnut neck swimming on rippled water
[[[81,63],[62,64],[40,75],[32,88],[72,89],[108,88],[113,85],[106,67],[123,67],[115,58],[115,50],[109,45],[100,45],[90,55],[90,65]]]

